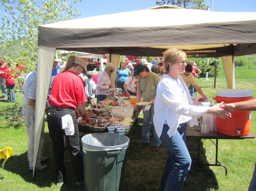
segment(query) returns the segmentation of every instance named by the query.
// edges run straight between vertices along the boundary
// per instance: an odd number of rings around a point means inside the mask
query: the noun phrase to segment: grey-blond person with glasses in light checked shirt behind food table
[[[109,96],[109,89],[112,87],[112,85],[110,84],[110,75],[113,73],[114,70],[114,65],[109,62],[106,64],[105,70],[100,73],[95,93],[97,103],[99,101],[105,100],[106,96]]]

